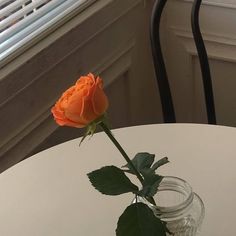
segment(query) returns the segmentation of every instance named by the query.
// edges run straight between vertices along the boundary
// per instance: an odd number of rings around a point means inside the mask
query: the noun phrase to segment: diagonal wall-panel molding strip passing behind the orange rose
[[[134,45],[134,41],[127,43],[126,48],[107,57],[106,61],[91,69],[91,71],[95,71],[107,79],[104,80],[105,88],[114,83],[121,74],[129,70],[132,63],[131,57]],[[0,147],[0,156],[3,157],[0,159],[0,172],[4,170],[1,166],[6,164],[11,166],[21,161],[22,158],[33,151],[39,143],[58,128],[50,112],[51,106],[52,104],[42,114],[35,117],[23,130]]]

